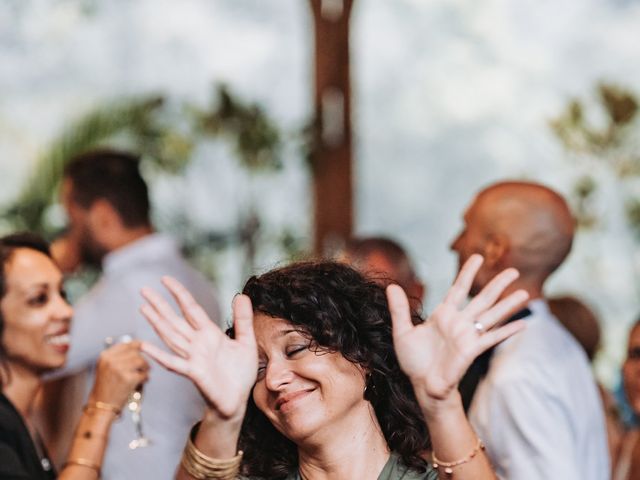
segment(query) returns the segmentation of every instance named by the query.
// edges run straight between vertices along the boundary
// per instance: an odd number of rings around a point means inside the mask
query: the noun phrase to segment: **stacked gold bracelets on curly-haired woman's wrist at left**
[[[200,426],[197,423],[191,430],[187,445],[182,453],[181,465],[189,475],[197,480],[234,480],[240,473],[242,451],[235,457],[227,459],[212,458],[202,453],[195,446],[192,436]]]

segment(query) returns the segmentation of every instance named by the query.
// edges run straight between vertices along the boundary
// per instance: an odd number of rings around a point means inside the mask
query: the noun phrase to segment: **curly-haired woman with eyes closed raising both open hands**
[[[498,301],[510,269],[466,304],[481,263],[467,262],[425,322],[397,285],[385,292],[334,262],[251,277],[228,336],[175,280],[164,284],[182,317],[145,289],[141,310],[173,354],[143,351],[208,403],[177,478],[495,478],[456,387],[477,355],[524,327],[498,325],[527,294]]]

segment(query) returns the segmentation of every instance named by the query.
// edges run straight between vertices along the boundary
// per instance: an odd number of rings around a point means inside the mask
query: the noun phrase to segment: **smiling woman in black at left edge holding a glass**
[[[140,342],[114,346],[98,361],[65,467],[55,468],[31,421],[42,375],[62,366],[73,309],[62,273],[40,237],[0,238],[0,478],[92,480],[129,394],[147,379]]]

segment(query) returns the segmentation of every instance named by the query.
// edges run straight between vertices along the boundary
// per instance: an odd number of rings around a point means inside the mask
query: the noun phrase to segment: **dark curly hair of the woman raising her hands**
[[[398,364],[384,289],[336,262],[301,262],[251,277],[243,293],[253,309],[283,318],[319,349],[339,352],[367,372],[365,398],[374,408],[389,449],[423,472],[427,427],[409,379]],[[414,315],[414,323],[422,320]],[[229,332],[233,335],[233,332]],[[298,469],[296,445],[269,422],[253,399],[240,434],[242,473],[285,478]]]

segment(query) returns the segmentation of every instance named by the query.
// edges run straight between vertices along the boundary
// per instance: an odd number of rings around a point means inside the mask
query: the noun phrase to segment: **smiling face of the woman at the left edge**
[[[36,374],[61,367],[73,310],[60,270],[45,254],[17,248],[4,265],[4,279],[1,340],[9,365]]]

